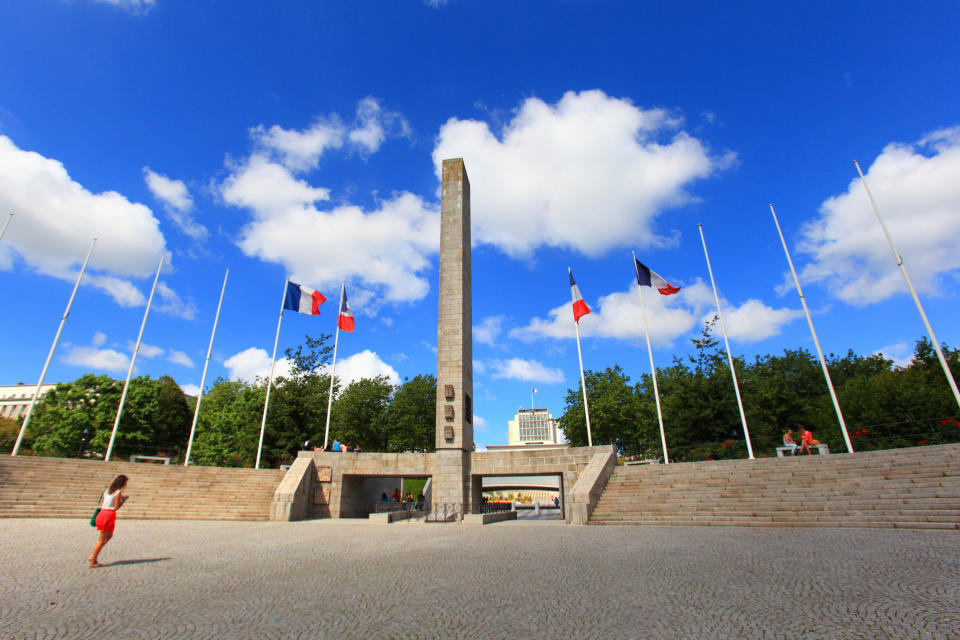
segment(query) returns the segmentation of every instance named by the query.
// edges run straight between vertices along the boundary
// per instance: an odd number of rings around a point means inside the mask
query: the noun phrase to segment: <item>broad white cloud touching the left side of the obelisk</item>
[[[327,189],[261,156],[237,168],[221,193],[227,204],[253,212],[240,232],[246,255],[282,264],[292,280],[321,290],[355,282],[357,312],[365,305],[370,310],[375,293],[381,300],[409,301],[429,290],[424,272],[439,245],[440,220],[418,196],[394,194],[369,212],[352,205],[320,210],[315,203],[329,198]]]

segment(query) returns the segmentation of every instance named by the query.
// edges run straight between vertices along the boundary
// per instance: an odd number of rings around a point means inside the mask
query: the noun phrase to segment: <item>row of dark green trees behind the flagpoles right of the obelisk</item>
[[[743,424],[724,351],[713,322],[692,340],[694,353],[657,370],[665,440],[671,460],[746,457]],[[960,352],[945,347],[960,378]],[[880,355],[826,357],[854,449],[912,446],[960,440],[957,405],[930,342],[916,344],[914,358],[897,367]],[[771,455],[788,428],[810,428],[835,451],[843,434],[817,357],[806,349],[734,358],[754,454]],[[614,366],[584,373],[593,443],[613,444],[624,455],[662,457],[652,379],[630,384]],[[944,423],[941,424],[941,420]],[[574,446],[587,444],[583,397],[569,389],[560,427]],[[872,427],[872,428],[871,428]]]

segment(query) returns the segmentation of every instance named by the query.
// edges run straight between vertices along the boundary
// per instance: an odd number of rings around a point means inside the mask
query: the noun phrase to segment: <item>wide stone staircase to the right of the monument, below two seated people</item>
[[[590,524],[960,529],[960,444],[617,467]]]

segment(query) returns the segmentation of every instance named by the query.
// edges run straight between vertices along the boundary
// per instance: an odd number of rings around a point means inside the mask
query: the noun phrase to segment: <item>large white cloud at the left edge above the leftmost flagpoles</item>
[[[160,257],[169,255],[149,208],[115,191],[91,193],[60,162],[22,151],[3,135],[0,211],[16,214],[0,246],[0,268],[12,268],[18,256],[38,273],[73,282],[97,238],[84,283],[120,306],[146,304],[129,278],[152,276]]]

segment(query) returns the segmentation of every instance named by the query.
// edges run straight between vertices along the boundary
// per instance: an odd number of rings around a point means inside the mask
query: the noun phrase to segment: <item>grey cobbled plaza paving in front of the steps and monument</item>
[[[0,638],[957,638],[946,531],[0,519]]]

